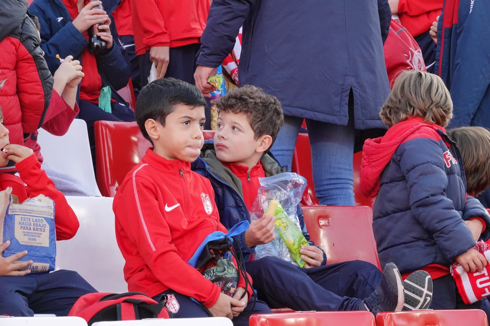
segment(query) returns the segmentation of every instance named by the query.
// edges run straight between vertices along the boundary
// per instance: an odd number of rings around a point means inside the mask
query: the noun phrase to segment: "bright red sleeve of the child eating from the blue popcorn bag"
[[[54,183],[41,169],[41,163],[37,161],[36,155],[32,154],[15,164],[15,167],[19,171],[22,181],[27,185],[27,197],[32,198],[42,194],[54,201],[56,240],[73,238],[80,226],[78,218],[68,205],[63,193],[54,187]]]

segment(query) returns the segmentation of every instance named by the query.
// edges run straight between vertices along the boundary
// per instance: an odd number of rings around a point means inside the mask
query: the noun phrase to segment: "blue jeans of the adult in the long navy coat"
[[[284,125],[271,148],[281,165],[291,170],[296,139],[303,118],[284,116]],[[352,161],[355,129],[352,117],[346,126],[306,119],[310,137],[313,182],[320,205],[355,206]]]

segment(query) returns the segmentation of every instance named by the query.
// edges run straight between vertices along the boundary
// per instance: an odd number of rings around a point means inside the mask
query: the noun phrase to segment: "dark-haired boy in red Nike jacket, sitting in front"
[[[227,233],[211,184],[191,171],[204,141],[205,105],[195,86],[174,78],[142,89],[135,115],[154,147],[114,197],[116,239],[126,260],[129,291],[157,301],[168,295],[167,306],[176,318],[224,316],[245,326],[251,314],[271,311],[263,302],[248,301],[253,290],[245,288],[244,278],[230,297],[187,263],[209,234]]]

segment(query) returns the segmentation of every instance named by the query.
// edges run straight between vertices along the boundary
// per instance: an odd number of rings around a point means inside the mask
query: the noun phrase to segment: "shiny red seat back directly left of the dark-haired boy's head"
[[[205,130],[204,139],[214,131]],[[95,123],[97,185],[102,196],[114,197],[126,174],[151,146],[136,122],[97,121]]]

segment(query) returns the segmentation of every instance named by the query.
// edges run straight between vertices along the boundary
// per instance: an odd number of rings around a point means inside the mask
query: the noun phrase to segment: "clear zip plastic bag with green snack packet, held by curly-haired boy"
[[[297,254],[301,246],[308,245],[308,242],[301,233],[297,206],[306,188],[306,179],[296,173],[287,172],[259,178],[259,182],[261,186],[252,204],[250,219],[253,221],[262,218],[264,211],[269,208],[270,201],[277,201],[278,205],[273,213],[277,224],[275,240],[256,246],[254,258],[276,256],[295,265],[304,266],[305,262],[299,258],[301,255]]]

